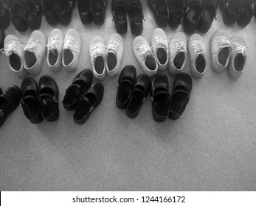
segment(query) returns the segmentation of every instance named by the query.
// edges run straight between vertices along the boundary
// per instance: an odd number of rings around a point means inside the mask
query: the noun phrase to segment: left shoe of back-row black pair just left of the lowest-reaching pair
[[[90,2],[91,0],[77,0],[78,12],[83,24],[91,24],[92,22]]]

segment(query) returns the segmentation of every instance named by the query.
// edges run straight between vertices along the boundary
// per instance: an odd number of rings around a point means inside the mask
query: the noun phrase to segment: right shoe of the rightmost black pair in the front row
[[[180,73],[173,82],[173,94],[170,100],[169,118],[176,120],[184,112],[188,102],[193,82],[190,74]]]

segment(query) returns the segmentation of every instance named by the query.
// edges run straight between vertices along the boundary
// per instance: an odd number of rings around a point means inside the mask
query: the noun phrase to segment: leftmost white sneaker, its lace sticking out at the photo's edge
[[[4,49],[1,49],[7,57],[7,64],[11,71],[20,78],[27,75],[27,71],[24,69],[24,57],[23,50],[21,48],[21,40],[14,35],[8,35],[4,39]]]

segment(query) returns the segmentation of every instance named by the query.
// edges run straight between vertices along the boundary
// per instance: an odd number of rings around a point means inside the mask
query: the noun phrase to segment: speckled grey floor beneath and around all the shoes
[[[151,40],[156,23],[143,1],[145,24],[142,35]],[[44,60],[42,75],[48,74],[58,83],[60,100],[76,74],[91,68],[89,42],[95,35],[105,41],[115,32],[110,1],[103,26],[83,26],[73,13],[69,26],[56,27],[66,32],[79,30],[83,49],[77,71],[49,71]],[[43,18],[41,31],[46,38],[54,27]],[[233,80],[226,71],[215,74],[210,68],[210,38],[216,29],[227,29],[230,37],[243,35],[249,46],[246,69],[240,79]],[[168,39],[179,29],[165,28]],[[256,21],[245,28],[224,25],[218,10],[218,21],[203,38],[207,44],[207,72],[193,79],[190,104],[178,121],[153,121],[148,97],[139,116],[128,118],[116,107],[117,77],[103,81],[105,96],[89,121],[82,126],[72,120],[60,104],[60,118],[54,123],[34,125],[25,118],[20,107],[0,129],[1,191],[255,191],[256,190]],[[18,33],[13,24],[6,34],[17,35],[27,42],[32,31]],[[128,27],[121,68],[136,66],[132,52],[134,36]],[[187,35],[189,38],[189,35]],[[21,85],[0,55],[0,87]],[[184,71],[190,73],[190,66]],[[170,85],[173,77],[167,73]]]

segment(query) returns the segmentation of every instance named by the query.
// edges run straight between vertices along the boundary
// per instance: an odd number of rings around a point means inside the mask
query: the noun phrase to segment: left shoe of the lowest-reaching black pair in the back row
[[[127,32],[126,4],[126,0],[112,0],[111,4],[114,26],[120,34]]]

